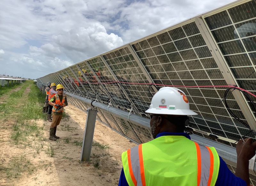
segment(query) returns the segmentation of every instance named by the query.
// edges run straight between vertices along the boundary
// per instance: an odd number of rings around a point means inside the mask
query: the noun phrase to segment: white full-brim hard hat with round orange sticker
[[[196,112],[189,109],[185,93],[174,87],[159,89],[153,96],[149,109],[145,112],[166,115],[197,115]]]

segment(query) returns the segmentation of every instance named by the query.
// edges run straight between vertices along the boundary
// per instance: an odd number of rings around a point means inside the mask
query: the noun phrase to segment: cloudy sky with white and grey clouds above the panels
[[[1,0],[0,75],[38,78],[233,0]]]

